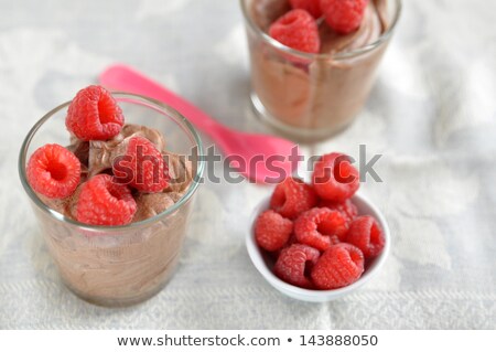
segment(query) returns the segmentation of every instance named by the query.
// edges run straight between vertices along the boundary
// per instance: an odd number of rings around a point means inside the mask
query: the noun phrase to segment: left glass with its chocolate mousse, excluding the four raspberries
[[[80,298],[101,306],[129,306],[159,292],[172,277],[186,235],[194,194],[204,170],[202,142],[193,126],[174,109],[145,97],[115,93],[126,118],[120,134],[107,141],[69,137],[63,104],[29,132],[19,172],[37,218],[40,232],[64,284]],[[169,185],[159,193],[132,192],[137,212],[122,226],[77,222],[75,212],[84,181],[111,172],[111,161],[127,141],[151,141],[169,166]],[[26,178],[26,163],[39,147],[66,146],[82,163],[82,181],[72,196],[47,199]]]

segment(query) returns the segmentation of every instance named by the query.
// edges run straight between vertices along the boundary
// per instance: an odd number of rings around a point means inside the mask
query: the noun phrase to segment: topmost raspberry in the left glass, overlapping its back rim
[[[79,90],[68,107],[65,126],[80,140],[107,140],[123,126],[123,115],[116,99],[100,86]]]

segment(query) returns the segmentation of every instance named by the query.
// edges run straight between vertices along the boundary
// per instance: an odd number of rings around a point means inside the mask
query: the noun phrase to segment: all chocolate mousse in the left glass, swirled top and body
[[[121,132],[107,141],[82,141],[72,138],[67,148],[82,161],[82,184],[73,195],[53,200],[40,195],[51,209],[76,217],[83,183],[95,174],[111,170],[114,158],[126,151],[132,137],[144,137],[163,153],[169,166],[169,186],[160,193],[133,191],[137,212],[133,223],[153,217],[179,202],[193,182],[192,163],[185,157],[166,151],[159,131],[137,125],[125,125]],[[75,232],[73,226],[56,224],[39,212],[47,236],[47,246],[66,285],[90,301],[119,300],[132,303],[134,298],[152,296],[171,276],[186,233],[190,204],[162,221],[152,222],[121,234],[99,236],[98,232]],[[46,218],[45,218],[46,217]],[[97,298],[97,299],[96,299]]]

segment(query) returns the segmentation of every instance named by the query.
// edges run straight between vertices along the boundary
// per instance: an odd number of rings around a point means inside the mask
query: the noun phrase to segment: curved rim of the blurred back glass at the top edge
[[[301,52],[301,51],[291,49],[289,46],[285,46],[284,44],[278,42],[277,40],[274,40],[273,38],[268,35],[254,22],[254,20],[249,15],[249,10],[248,10],[248,6],[247,6],[248,0],[239,0],[240,6],[241,6],[241,12],[245,18],[245,22],[248,23],[250,29],[252,31],[255,31],[260,38],[262,38],[266,43],[270,44],[271,46],[274,46],[276,49],[278,49],[284,53],[291,54],[291,55],[300,57],[300,58],[334,60],[334,61],[353,58],[353,57],[366,54],[366,53],[373,51],[374,49],[378,47],[381,43],[386,42],[392,35],[392,33],[397,26],[398,20],[400,18],[400,14],[401,14],[402,1],[401,0],[388,0],[388,1],[396,2],[395,15],[393,15],[393,19],[392,19],[389,28],[376,41],[374,41],[370,44],[360,46],[358,49],[354,49],[348,52],[341,52],[341,53],[334,53],[334,54],[312,54],[312,53],[305,53],[305,52]]]

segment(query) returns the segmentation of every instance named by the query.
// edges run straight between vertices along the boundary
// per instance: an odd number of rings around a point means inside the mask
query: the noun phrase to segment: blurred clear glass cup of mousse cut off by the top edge
[[[382,29],[376,41],[365,44],[365,39],[360,44],[362,39],[348,51],[309,54],[292,50],[267,34],[270,23],[289,10],[287,0],[240,0],[256,114],[296,140],[324,139],[345,129],[369,96],[376,68],[401,12],[401,0],[376,0],[375,3],[384,14],[376,18],[376,22],[370,20],[370,25],[380,25],[376,31]],[[259,15],[260,11],[268,11],[270,15]],[[320,25],[322,45],[326,45],[325,41],[339,40],[322,25],[325,23]],[[362,30],[359,29],[357,33]]]

